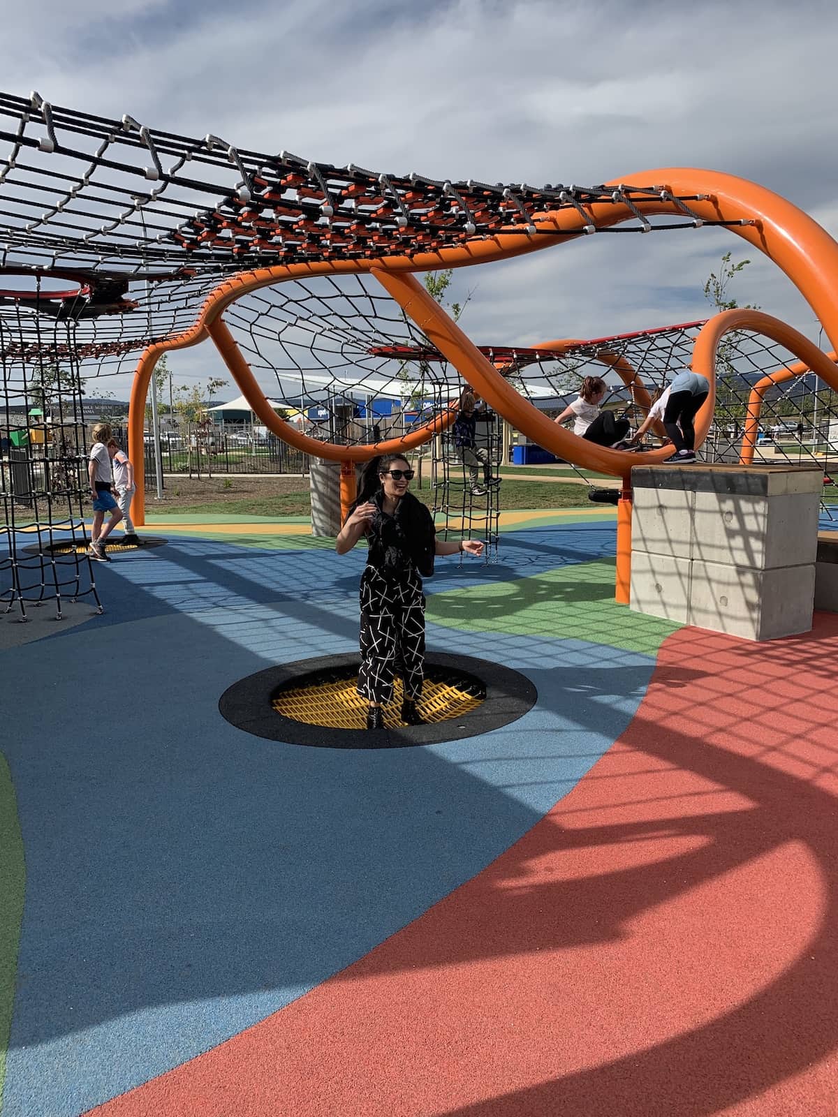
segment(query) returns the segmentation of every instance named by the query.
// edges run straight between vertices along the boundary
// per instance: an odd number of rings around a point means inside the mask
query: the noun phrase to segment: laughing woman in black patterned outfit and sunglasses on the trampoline
[[[408,491],[413,470],[399,455],[375,458],[364,469],[361,491],[335,543],[346,554],[362,535],[369,543],[361,575],[361,670],[358,693],[366,698],[368,729],[383,726],[381,707],[392,700],[398,671],[404,685],[401,719],[420,725],[416,704],[425,677],[422,575],[434,573],[434,556],[483,554],[483,543],[436,538],[428,508]]]

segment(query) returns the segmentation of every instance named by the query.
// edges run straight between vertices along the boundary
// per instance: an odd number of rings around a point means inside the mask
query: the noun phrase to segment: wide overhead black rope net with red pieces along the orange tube
[[[241,271],[412,258],[499,231],[562,239],[570,233],[535,223],[559,210],[589,233],[742,223],[696,218],[691,201],[703,197],[339,168],[0,94],[0,274],[60,270],[84,287],[74,314],[77,344],[96,362],[89,376],[131,372],[141,349],[183,334]],[[638,209],[661,198],[668,216]],[[618,204],[632,216],[615,228],[592,209]]]

